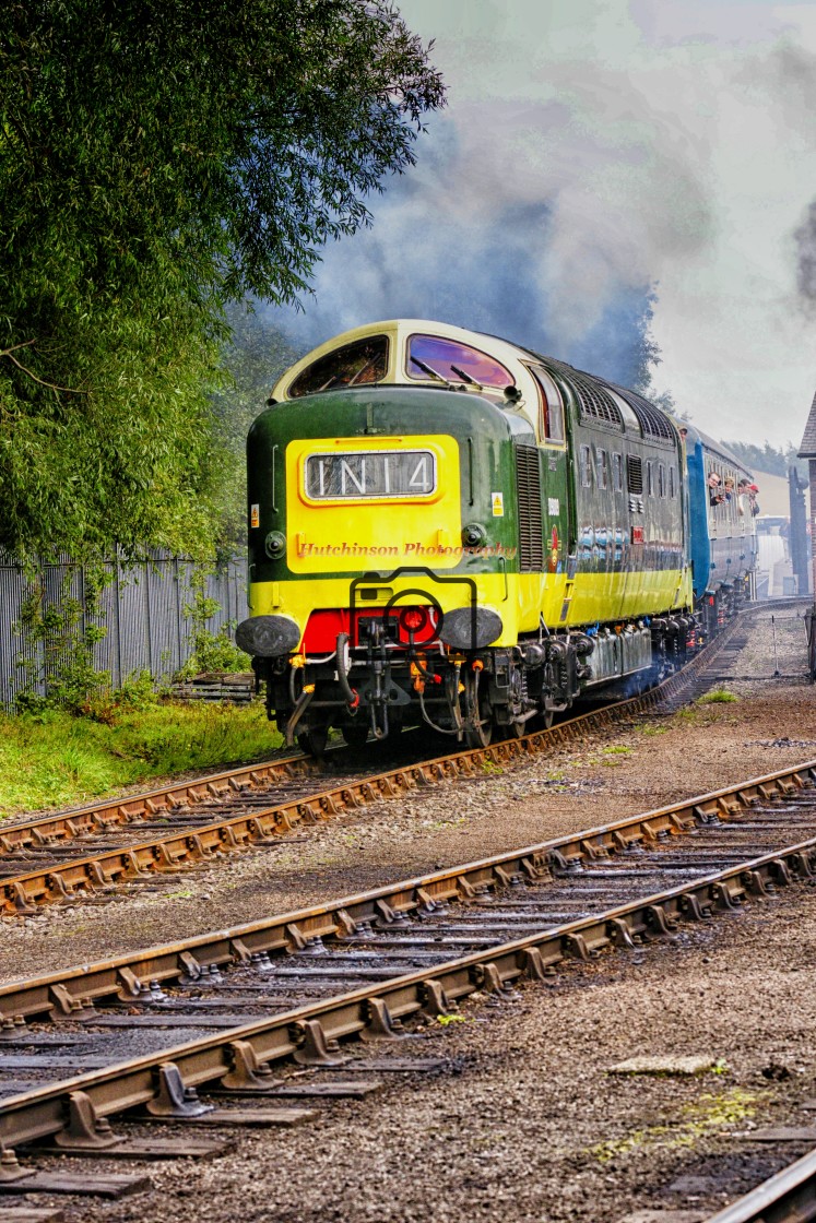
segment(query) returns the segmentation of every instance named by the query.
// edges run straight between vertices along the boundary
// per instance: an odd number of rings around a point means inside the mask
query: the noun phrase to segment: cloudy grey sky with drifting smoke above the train
[[[275,319],[499,334],[799,444],[816,390],[816,0],[398,0],[448,106]]]

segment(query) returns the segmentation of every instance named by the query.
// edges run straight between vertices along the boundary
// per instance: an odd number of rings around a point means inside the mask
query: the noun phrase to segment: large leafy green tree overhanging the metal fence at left
[[[225,307],[369,221],[427,56],[388,0],[4,10],[0,545],[212,547]]]

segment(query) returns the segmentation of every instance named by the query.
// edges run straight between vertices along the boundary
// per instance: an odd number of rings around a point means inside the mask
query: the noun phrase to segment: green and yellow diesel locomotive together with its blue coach
[[[749,592],[750,473],[642,395],[415,319],[328,341],[247,443],[252,656],[286,741],[471,745],[680,667]],[[712,472],[734,495],[711,495]],[[740,481],[743,484],[740,486]]]

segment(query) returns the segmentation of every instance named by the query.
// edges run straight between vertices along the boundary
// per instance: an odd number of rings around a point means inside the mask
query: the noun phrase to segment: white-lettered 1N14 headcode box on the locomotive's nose
[[[306,495],[313,501],[429,497],[437,489],[431,450],[318,454],[306,460]]]

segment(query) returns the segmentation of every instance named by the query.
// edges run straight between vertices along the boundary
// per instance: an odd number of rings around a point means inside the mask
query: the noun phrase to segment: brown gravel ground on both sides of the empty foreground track
[[[795,675],[804,629],[789,615],[776,614],[777,658]],[[770,616],[729,665],[757,675],[728,685],[735,702],[377,804],[274,851],[185,872],[170,895],[2,922],[2,977],[319,903],[816,757],[812,689],[770,678]],[[409,1053],[448,1059],[442,1074],[410,1085],[387,1076],[368,1101],[323,1102],[308,1130],[240,1131],[230,1156],[153,1166],[152,1194],[60,1206],[70,1219],[142,1223],[619,1223],[646,1210],[711,1212],[806,1148],[740,1135],[812,1115],[799,1106],[816,1095],[814,899],[795,888],[635,953],[570,963],[515,1002],[470,1000],[462,1021],[429,1022],[411,1042]],[[632,1057],[702,1058],[713,1069],[608,1073]]]

